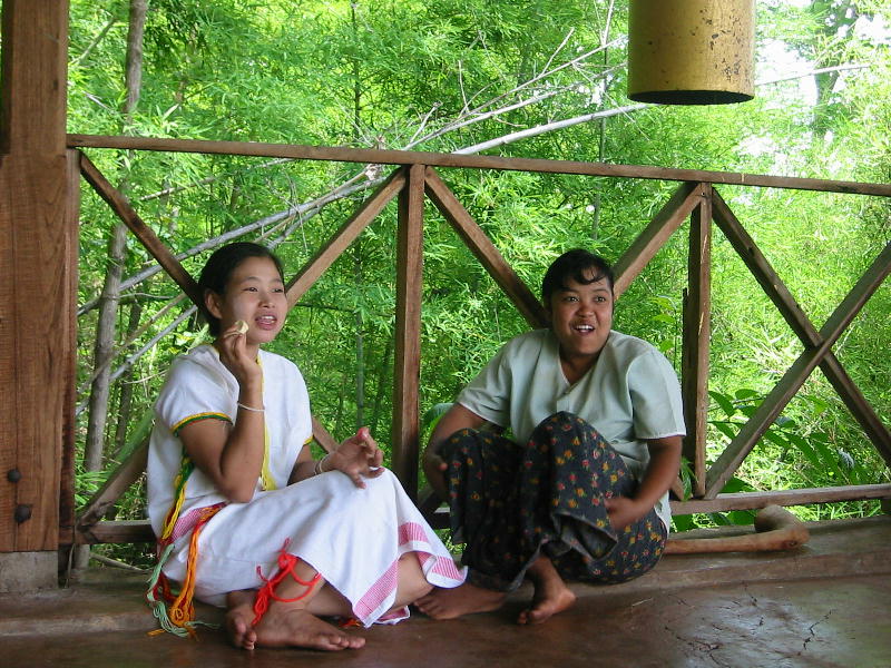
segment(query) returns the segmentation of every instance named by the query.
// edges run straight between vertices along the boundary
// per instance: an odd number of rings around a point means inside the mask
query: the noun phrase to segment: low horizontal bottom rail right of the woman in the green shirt
[[[672,514],[698,512],[727,512],[730,510],[754,510],[767,505],[806,505],[810,503],[834,503],[838,501],[863,501],[891,499],[891,484],[860,484],[836,488],[809,488],[801,490],[776,490],[771,492],[736,492],[718,494],[714,499],[672,501]]]

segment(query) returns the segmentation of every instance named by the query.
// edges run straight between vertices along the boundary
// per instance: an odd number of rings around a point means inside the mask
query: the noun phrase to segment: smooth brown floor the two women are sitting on
[[[0,665],[891,667],[891,518],[809,528],[794,552],[668,556],[634,582],[575,584],[577,605],[538,627],[513,622],[522,589],[497,612],[353,631],[366,646],[335,654],[149,637],[143,577],[96,569],[71,589],[0,596]]]

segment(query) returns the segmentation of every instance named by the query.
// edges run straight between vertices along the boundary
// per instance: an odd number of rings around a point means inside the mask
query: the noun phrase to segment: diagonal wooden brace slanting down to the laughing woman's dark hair
[[[454,196],[454,193],[443,183],[439,175],[431,168],[427,169],[427,195],[437,205],[452,228],[461,237],[467,247],[489,272],[489,275],[508,295],[517,310],[532,327],[544,327],[548,324],[545,307],[536,298],[529,287],[517,276],[516,272],[505,261],[491,239],[467,212]]]

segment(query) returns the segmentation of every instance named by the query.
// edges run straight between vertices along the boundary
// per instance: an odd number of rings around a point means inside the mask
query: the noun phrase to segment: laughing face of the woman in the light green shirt
[[[586,272],[590,276],[594,272]],[[574,367],[590,367],[613,327],[613,289],[606,278],[584,285],[570,278],[550,296],[551,328],[560,358]]]

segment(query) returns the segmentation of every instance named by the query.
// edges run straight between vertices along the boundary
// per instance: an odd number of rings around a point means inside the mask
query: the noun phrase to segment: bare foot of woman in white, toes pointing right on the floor
[[[256,645],[261,647],[307,647],[336,651],[359,649],[365,645],[364,638],[350,636],[302,608],[277,612],[271,609],[255,630]]]

